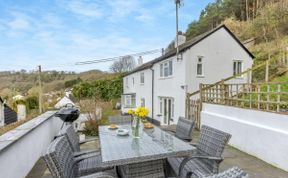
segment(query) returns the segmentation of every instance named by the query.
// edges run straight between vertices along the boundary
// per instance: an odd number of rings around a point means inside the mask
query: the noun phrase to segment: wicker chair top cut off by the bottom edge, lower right
[[[230,168],[219,174],[214,174],[205,178],[248,178],[249,175],[238,167]]]

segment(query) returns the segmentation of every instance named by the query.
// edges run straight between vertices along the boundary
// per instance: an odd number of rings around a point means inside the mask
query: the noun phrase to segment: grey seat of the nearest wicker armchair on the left
[[[78,176],[113,169],[113,167],[103,166],[101,155],[96,155],[78,162]]]

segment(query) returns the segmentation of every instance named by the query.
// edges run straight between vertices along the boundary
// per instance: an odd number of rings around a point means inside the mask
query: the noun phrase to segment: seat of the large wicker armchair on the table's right
[[[180,164],[184,158],[168,158],[167,161],[170,167],[173,169],[174,173],[178,174]],[[210,170],[200,159],[193,159],[186,163],[183,170],[181,171],[181,177],[186,177],[188,173],[193,173],[194,177],[203,177],[212,174]]]

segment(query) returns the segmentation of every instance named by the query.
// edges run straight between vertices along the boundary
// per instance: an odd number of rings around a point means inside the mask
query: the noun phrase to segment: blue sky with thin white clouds
[[[179,30],[212,1],[184,0]],[[74,63],[165,48],[174,36],[174,0],[0,0],[0,71],[108,70]]]

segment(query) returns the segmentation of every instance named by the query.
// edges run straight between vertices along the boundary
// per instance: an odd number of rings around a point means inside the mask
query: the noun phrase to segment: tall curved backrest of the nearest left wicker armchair
[[[53,177],[74,178],[77,175],[77,164],[73,158],[73,151],[65,136],[57,137],[43,155]]]

